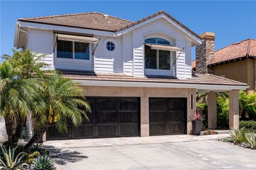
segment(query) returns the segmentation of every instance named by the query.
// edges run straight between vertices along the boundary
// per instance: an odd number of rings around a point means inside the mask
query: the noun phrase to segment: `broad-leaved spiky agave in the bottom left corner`
[[[15,157],[15,150],[17,149],[17,147],[13,149],[9,147],[8,151],[5,147],[1,147],[3,157],[0,157],[0,169],[21,169],[22,167],[27,166],[27,164],[21,163],[21,160],[24,156],[23,152],[20,152]]]

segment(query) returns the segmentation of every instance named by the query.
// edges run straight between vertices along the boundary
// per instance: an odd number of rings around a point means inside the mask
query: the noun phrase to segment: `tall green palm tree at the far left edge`
[[[1,115],[5,119],[10,142],[17,142],[21,137],[31,103],[36,96],[40,97],[42,76],[47,67],[46,63],[40,62],[44,56],[32,53],[29,49],[22,52],[13,49],[13,55],[2,56],[4,62],[1,65],[0,82]],[[23,109],[19,109],[17,105]]]

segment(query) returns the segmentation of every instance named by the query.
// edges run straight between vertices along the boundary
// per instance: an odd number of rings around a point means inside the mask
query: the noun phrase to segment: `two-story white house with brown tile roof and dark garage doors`
[[[229,91],[229,126],[236,128],[238,90],[247,84],[192,74],[191,47],[201,43],[164,11],[135,22],[98,12],[20,18],[14,39],[81,82],[92,106],[90,122],[70,124],[68,134],[52,126],[47,140],[190,134],[198,91],[209,92],[209,128],[217,128],[215,92]]]

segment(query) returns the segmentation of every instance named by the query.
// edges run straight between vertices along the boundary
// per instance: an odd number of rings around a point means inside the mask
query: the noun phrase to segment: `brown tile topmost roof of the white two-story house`
[[[184,24],[179,22],[173,16],[168,14],[165,11],[158,11],[152,15],[148,15],[145,18],[142,18],[138,21],[132,22],[129,20],[117,18],[115,16],[108,15],[107,18],[103,18],[102,13],[99,12],[85,12],[85,13],[74,13],[74,14],[62,14],[62,15],[50,15],[50,16],[41,16],[41,17],[33,17],[33,18],[19,18],[18,21],[25,22],[34,22],[34,23],[43,23],[43,24],[53,24],[53,25],[61,25],[66,27],[76,27],[76,28],[85,28],[85,29],[94,29],[94,30],[103,30],[103,31],[112,31],[118,32],[127,28],[132,27],[138,23],[146,21],[154,16],[165,14],[173,21],[177,22],[181,27],[188,30],[194,36],[199,39],[202,39],[197,33],[190,30]]]

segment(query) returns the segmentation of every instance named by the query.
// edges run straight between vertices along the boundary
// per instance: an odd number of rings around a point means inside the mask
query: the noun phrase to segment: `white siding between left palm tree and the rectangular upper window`
[[[39,52],[39,54],[45,54],[43,62],[49,64],[49,67],[53,68],[53,32],[43,30],[30,30],[28,48],[31,48],[33,52]]]

